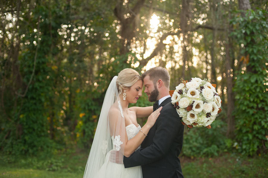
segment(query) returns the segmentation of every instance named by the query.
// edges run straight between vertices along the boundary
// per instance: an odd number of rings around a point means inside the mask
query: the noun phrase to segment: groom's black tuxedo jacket
[[[124,157],[125,168],[142,167],[143,178],[183,178],[178,155],[183,145],[184,126],[173,108],[171,97],[164,100],[161,114],[149,130],[141,148]]]

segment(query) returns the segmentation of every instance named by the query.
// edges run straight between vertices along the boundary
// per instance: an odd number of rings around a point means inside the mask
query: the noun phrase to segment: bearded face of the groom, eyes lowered
[[[150,80],[150,76],[146,75],[143,79],[144,81],[144,93],[147,94],[148,100],[150,102],[154,102],[158,98],[159,91],[156,88],[156,84],[153,83],[153,81]]]

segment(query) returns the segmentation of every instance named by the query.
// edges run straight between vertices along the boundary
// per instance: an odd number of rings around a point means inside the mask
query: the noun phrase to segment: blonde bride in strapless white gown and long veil
[[[114,76],[102,110],[88,156],[83,178],[141,178],[141,166],[124,168],[123,157],[138,149],[155,124],[161,108],[130,107],[141,96],[143,80],[137,71],[124,69]],[[141,127],[137,117],[149,116]]]

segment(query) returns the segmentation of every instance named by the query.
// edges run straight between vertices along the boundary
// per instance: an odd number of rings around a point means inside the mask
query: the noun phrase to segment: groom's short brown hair
[[[141,77],[144,78],[144,77],[146,77],[147,75],[149,75],[150,80],[151,80],[154,84],[156,84],[156,82],[157,82],[159,79],[161,79],[161,80],[164,82],[165,86],[166,86],[167,88],[169,88],[170,76],[169,76],[168,71],[167,71],[165,68],[163,68],[163,67],[153,67],[153,68],[151,68],[151,69],[145,71],[145,72],[141,75]]]

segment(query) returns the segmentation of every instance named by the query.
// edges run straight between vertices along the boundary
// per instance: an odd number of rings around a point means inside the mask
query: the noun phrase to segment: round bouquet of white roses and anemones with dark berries
[[[169,91],[171,103],[182,117],[182,124],[192,127],[211,128],[211,123],[218,113],[222,111],[222,100],[216,92],[216,84],[211,84],[207,79],[191,78]]]

